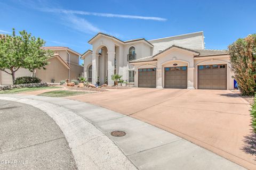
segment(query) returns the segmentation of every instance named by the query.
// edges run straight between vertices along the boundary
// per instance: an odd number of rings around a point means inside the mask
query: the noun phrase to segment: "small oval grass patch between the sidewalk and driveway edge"
[[[76,95],[84,95],[91,94],[93,92],[89,91],[71,91],[71,90],[55,90],[44,92],[43,94],[39,94],[38,96],[47,96],[47,97],[66,97],[66,96],[76,96]]]

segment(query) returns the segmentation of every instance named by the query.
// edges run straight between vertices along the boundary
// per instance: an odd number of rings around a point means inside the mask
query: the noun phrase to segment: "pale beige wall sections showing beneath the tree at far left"
[[[7,72],[10,72],[7,70]],[[27,69],[20,68],[17,72],[15,72],[15,78],[23,77],[23,76],[31,76],[31,72]],[[5,73],[4,71],[0,71],[0,85],[11,85],[12,83],[12,75]]]

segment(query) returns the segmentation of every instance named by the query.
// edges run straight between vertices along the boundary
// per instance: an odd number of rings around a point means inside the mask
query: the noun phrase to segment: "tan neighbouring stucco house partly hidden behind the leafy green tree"
[[[49,59],[49,65],[44,69],[36,69],[36,77],[42,79],[42,82],[60,82],[61,80],[77,80],[83,73],[83,66],[79,65],[79,56],[68,47],[42,47],[43,49],[53,50],[54,55]],[[15,73],[15,78],[31,76],[32,73],[27,69],[19,69]],[[0,85],[12,84],[12,77],[3,71],[0,71]]]

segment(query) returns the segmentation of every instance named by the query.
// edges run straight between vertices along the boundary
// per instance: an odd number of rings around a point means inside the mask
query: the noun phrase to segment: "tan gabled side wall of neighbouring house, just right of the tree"
[[[68,79],[68,69],[57,57],[51,58],[49,62],[50,64],[46,66],[46,70],[36,70],[36,77],[42,79],[42,82],[51,82],[54,79],[57,83],[61,80]]]

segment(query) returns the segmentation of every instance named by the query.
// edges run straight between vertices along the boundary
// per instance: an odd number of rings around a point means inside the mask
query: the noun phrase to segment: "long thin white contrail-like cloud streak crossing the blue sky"
[[[165,18],[159,18],[155,16],[138,16],[138,15],[122,15],[122,14],[111,14],[111,13],[97,13],[97,12],[86,12],[86,11],[76,11],[76,10],[63,10],[58,8],[43,8],[41,9],[45,12],[54,13],[66,13],[66,14],[79,14],[79,15],[93,15],[93,16],[103,16],[110,18],[127,18],[127,19],[141,19],[141,20],[155,20],[155,21],[166,21]]]

